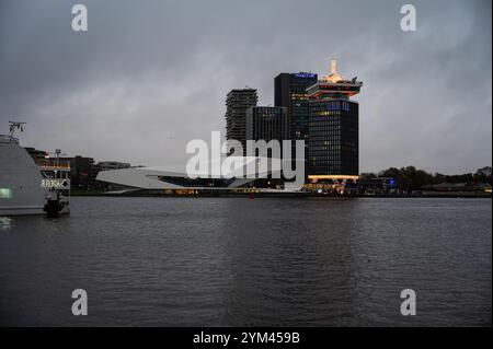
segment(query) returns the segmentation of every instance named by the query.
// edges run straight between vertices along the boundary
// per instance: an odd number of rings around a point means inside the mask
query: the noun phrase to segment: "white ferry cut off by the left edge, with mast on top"
[[[58,159],[36,163],[14,137],[25,123],[10,121],[0,135],[0,217],[70,212],[70,164]]]

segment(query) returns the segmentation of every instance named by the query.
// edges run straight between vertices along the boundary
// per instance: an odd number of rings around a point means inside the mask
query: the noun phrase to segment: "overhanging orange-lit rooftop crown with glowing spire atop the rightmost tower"
[[[347,80],[337,73],[337,62],[331,59],[329,75],[322,77],[313,85],[307,89],[310,100],[325,100],[325,98],[349,98],[359,93],[363,82],[354,77]]]

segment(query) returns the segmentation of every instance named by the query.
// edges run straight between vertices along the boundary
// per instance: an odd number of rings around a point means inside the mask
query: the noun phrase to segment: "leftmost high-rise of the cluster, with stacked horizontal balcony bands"
[[[256,106],[255,89],[231,90],[226,97],[226,139],[238,140],[246,153],[246,109]]]

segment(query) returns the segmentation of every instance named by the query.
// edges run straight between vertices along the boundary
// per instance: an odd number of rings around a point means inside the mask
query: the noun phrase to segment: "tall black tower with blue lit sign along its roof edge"
[[[305,174],[308,174],[308,94],[307,88],[317,83],[310,72],[280,73],[274,80],[274,105],[287,108],[290,140],[305,140]],[[291,155],[295,153],[295,142]],[[298,154],[299,156],[299,154]]]

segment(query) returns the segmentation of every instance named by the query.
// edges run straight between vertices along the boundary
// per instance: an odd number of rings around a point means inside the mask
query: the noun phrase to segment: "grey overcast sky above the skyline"
[[[225,131],[229,90],[273,104],[279,72],[363,80],[360,170],[465,173],[492,162],[491,1],[0,0],[0,131],[96,161],[184,163]],[[89,31],[71,30],[84,3]]]

